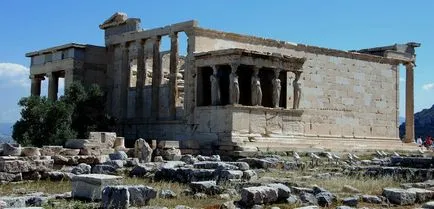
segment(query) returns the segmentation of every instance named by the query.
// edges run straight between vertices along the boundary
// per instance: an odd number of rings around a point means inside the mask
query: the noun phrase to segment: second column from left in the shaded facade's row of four
[[[144,99],[143,99],[143,88],[145,87],[146,79],[146,65],[145,65],[145,52],[144,52],[144,41],[137,40],[136,42],[137,50],[137,81],[136,81],[136,116],[141,118],[144,116]]]

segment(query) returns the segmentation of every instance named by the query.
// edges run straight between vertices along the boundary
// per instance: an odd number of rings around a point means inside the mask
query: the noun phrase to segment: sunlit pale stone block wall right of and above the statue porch
[[[302,123],[307,136],[398,138],[399,80],[395,65],[253,41],[195,37],[196,53],[229,48],[306,57],[300,107],[305,110]],[[292,84],[291,78],[288,84]],[[292,92],[287,96],[291,104]]]

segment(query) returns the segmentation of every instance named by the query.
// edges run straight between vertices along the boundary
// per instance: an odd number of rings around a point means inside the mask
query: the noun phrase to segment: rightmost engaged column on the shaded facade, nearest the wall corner
[[[175,32],[170,34],[169,115],[171,119],[176,119],[178,56],[178,33]]]

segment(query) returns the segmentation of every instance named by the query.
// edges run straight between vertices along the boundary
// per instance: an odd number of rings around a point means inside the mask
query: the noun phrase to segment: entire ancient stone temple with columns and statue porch
[[[59,77],[66,87],[97,83],[126,139],[177,140],[185,153],[402,148],[401,64],[405,141],[414,138],[418,43],[342,51],[205,29],[196,21],[143,30],[140,19],[123,13],[99,27],[105,46],[73,43],[26,54],[31,92],[40,95],[44,78],[53,100]],[[163,39],[169,51],[161,50]]]

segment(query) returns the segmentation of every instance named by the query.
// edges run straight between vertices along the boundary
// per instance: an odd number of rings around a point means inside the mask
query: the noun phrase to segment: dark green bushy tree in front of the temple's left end
[[[22,145],[63,145],[67,139],[87,138],[90,131],[110,131],[114,120],[105,114],[104,94],[97,85],[85,88],[74,82],[58,101],[25,97],[21,119],[12,137]]]

